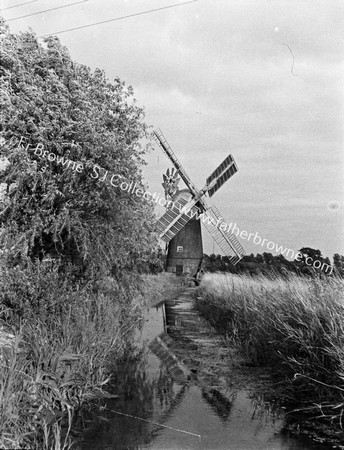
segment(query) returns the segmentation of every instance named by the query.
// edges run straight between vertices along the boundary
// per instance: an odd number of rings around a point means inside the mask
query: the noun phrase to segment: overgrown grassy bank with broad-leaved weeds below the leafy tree
[[[102,396],[141,305],[169,281],[107,277],[81,287],[50,263],[0,275],[8,337],[0,344],[0,448],[67,449],[74,412]]]

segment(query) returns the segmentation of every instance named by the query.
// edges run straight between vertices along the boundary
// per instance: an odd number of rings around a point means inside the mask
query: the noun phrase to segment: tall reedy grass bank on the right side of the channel
[[[300,420],[343,439],[343,280],[206,274],[199,292],[201,313],[252,364],[273,368]]]

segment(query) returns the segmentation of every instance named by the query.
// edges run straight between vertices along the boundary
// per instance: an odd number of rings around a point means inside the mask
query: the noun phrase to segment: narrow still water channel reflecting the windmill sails
[[[176,341],[184,345],[186,339],[178,325],[194,324],[197,317],[187,296],[147,309],[136,336],[140,356],[123,364],[111,387],[123,394],[106,400],[101,417],[87,424],[79,448],[327,448],[282,433],[283,412],[259,401],[250,390],[234,387],[223,392],[198,383],[196,370],[183,365],[171,350]],[[197,328],[193,333],[189,349],[206,339]]]

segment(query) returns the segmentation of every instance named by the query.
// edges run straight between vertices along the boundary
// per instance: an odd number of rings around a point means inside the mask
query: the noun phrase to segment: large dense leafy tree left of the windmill
[[[51,255],[83,271],[120,273],[133,252],[155,245],[151,202],[110,182],[118,175],[145,189],[147,128],[132,88],[73,62],[56,37],[41,45],[3,22],[0,34],[1,156],[10,162],[0,183],[11,187],[2,245],[11,242],[12,258]],[[82,170],[35,155],[37,148]]]

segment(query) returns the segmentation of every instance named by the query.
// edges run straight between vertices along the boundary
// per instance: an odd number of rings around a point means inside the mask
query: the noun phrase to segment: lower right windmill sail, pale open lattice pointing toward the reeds
[[[210,219],[204,220],[203,224],[214,241],[233,264],[239,262],[245,251],[234,234],[221,230],[221,228],[216,226],[222,219],[219,210],[215,206],[211,206],[204,214]]]

